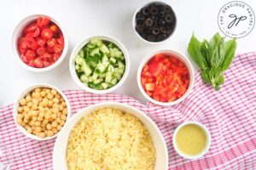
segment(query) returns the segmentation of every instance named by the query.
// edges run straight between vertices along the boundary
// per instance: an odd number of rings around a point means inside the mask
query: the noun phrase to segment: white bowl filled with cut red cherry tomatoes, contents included
[[[29,71],[52,70],[67,54],[66,34],[55,19],[44,14],[21,20],[12,41],[18,62]]]

